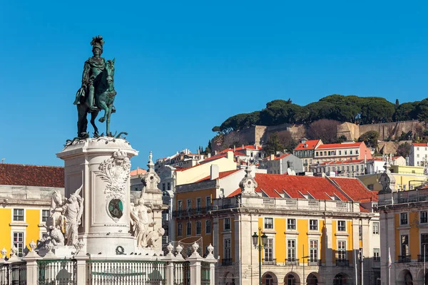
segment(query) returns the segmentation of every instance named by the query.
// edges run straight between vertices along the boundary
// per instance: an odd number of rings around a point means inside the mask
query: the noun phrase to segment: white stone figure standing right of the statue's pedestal
[[[134,237],[137,238],[137,247],[147,247],[148,234],[152,232],[156,222],[153,220],[152,208],[146,207],[144,199],[138,200],[138,205],[131,211],[131,224],[133,225]]]

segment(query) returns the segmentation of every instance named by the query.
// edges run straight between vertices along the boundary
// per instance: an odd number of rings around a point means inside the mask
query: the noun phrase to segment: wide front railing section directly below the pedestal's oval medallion
[[[165,262],[133,260],[86,261],[87,285],[165,285]]]

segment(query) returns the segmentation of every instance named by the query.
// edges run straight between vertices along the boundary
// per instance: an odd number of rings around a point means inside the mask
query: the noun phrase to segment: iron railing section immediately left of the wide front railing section
[[[77,285],[76,259],[38,260],[37,269],[39,284]]]

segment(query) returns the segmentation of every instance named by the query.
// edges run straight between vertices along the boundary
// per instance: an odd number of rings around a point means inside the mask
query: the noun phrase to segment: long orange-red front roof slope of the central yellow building
[[[277,192],[285,192],[294,199],[305,199],[303,195],[310,195],[314,199],[331,199],[337,196],[342,201],[349,200],[325,177],[257,173],[255,181],[258,183],[255,191],[263,190],[268,197],[280,198]]]

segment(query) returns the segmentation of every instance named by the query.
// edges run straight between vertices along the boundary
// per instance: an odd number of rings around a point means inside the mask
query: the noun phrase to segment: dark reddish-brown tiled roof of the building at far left
[[[64,187],[64,168],[1,163],[0,185]]]

